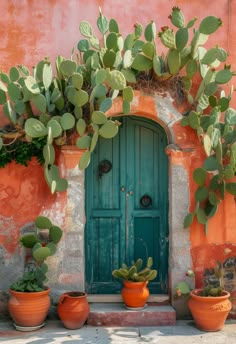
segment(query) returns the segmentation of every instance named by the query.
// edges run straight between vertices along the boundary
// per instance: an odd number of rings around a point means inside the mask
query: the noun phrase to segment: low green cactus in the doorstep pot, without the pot
[[[113,270],[112,276],[132,282],[152,281],[157,277],[157,270],[152,270],[152,257],[147,259],[147,264],[143,268],[143,260],[139,258],[136,262],[132,262],[130,266],[122,264],[119,270]]]

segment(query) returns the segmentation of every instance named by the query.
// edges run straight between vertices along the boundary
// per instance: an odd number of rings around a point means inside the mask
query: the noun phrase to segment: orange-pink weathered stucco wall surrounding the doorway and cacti
[[[209,46],[219,44],[229,52],[228,63],[236,70],[236,0],[205,0],[204,3],[199,0],[3,0],[0,1],[0,69],[8,71],[17,64],[30,67],[45,56],[51,61],[59,54],[69,58],[81,38],[80,21],[88,20],[95,26],[98,6],[104,15],[119,22],[124,34],[129,33],[136,22],[146,25],[150,20],[156,22],[159,31],[161,26],[169,24],[168,15],[173,6],[183,10],[186,20],[198,17],[200,22],[207,15],[220,17],[224,26],[212,36]],[[232,106],[236,107],[235,94]],[[1,114],[0,120],[3,121]],[[183,129],[178,123],[174,130],[177,144],[196,145],[193,131]],[[201,148],[196,146],[188,163],[177,156],[176,164],[185,164],[191,176],[202,157]],[[58,202],[57,196],[50,195],[42,175],[42,169],[35,162],[30,169],[15,164],[0,169],[0,241],[9,253],[17,245],[17,230],[41,210],[51,209]],[[195,187],[190,179],[190,209]],[[60,197],[63,204],[64,196]],[[219,214],[210,222],[208,236],[197,223],[191,227],[193,264],[199,273],[204,264],[213,266],[219,256],[236,255],[235,207],[234,198],[228,195],[224,205],[220,205]],[[58,212],[62,208],[60,205]],[[231,251],[224,250],[227,245]]]

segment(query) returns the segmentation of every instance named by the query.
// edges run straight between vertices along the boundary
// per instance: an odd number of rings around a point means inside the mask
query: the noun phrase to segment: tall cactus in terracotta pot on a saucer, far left
[[[20,243],[30,252],[28,270],[9,289],[9,313],[16,329],[31,331],[44,325],[50,307],[50,288],[45,286],[48,266],[45,260],[56,252],[62,237],[60,227],[47,217],[38,216],[32,232],[23,234]]]

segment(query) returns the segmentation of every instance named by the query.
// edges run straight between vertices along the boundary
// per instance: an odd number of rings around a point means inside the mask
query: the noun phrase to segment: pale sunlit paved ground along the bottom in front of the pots
[[[90,327],[67,330],[60,321],[48,321],[34,332],[16,331],[11,322],[0,321],[1,344],[236,344],[236,321],[228,320],[222,331],[202,332],[192,321],[177,321],[176,326]]]

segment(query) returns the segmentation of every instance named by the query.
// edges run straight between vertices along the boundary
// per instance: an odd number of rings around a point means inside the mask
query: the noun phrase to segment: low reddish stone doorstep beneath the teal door
[[[123,303],[90,303],[87,325],[90,326],[171,326],[176,313],[170,305],[150,305],[129,310]]]

